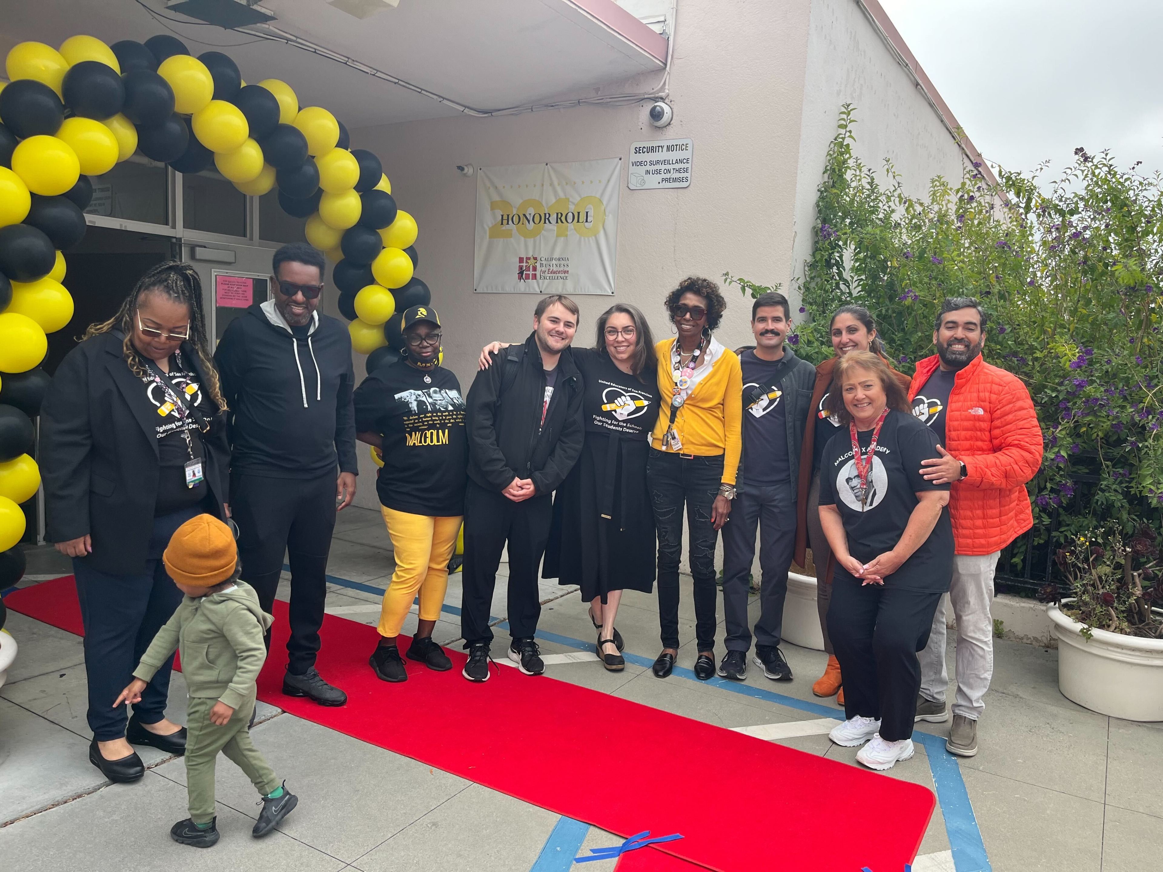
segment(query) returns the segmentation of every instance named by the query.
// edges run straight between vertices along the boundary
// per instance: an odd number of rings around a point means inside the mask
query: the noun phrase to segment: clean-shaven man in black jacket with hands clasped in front
[[[488,679],[488,610],[508,543],[508,656],[527,676],[545,671],[534,641],[541,616],[537,567],[549,539],[551,494],[582,453],[582,376],[569,345],[578,307],[543,296],[523,345],[494,355],[469,391],[469,485],[464,498],[464,677]]]

